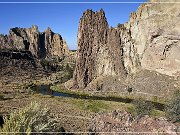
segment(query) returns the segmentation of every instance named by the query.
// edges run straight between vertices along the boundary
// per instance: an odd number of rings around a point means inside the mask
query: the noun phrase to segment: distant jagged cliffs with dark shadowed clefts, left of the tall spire
[[[12,28],[9,35],[0,35],[1,50],[26,50],[37,58],[68,55],[69,49],[59,34],[47,28],[40,33],[37,26]]]

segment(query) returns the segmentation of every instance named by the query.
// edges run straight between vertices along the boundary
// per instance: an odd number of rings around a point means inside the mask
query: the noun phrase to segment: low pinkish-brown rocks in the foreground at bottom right
[[[147,135],[164,133],[177,135],[180,128],[165,118],[152,118],[149,116],[136,119],[130,113],[115,110],[112,113],[97,114],[92,120],[90,131],[98,134],[103,132],[116,132],[120,134],[144,133]]]

